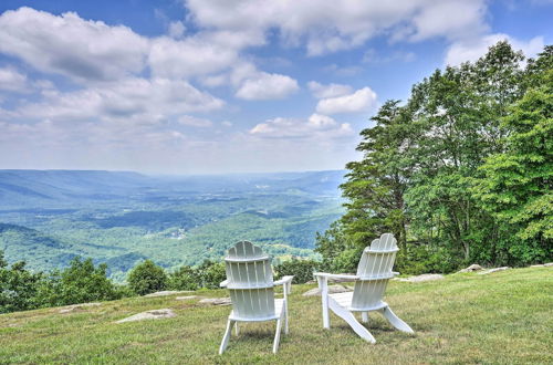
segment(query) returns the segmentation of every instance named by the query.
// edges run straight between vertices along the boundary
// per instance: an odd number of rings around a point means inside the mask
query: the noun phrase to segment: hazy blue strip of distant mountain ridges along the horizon
[[[64,206],[76,201],[140,199],[156,194],[171,196],[251,191],[338,195],[343,170],[150,176],[105,170],[0,170],[0,209]]]

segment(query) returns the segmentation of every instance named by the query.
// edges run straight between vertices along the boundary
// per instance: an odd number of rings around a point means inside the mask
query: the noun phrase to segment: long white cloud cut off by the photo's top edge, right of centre
[[[486,28],[484,0],[247,0],[239,7],[232,1],[187,0],[186,6],[200,27],[255,36],[278,29],[284,43],[305,44],[310,55],[359,46],[383,33],[394,34],[396,40],[420,41],[456,39],[467,30]]]

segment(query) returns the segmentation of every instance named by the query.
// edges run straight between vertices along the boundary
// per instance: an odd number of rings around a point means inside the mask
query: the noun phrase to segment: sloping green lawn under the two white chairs
[[[276,355],[271,353],[274,322],[242,324],[219,356],[230,307],[166,296],[106,302],[69,314],[46,309],[0,315],[0,363],[553,363],[551,268],[392,282],[386,301],[416,334],[395,331],[379,314],[371,314],[375,345],[333,314],[331,330],[323,330],[320,298],[301,295],[311,288],[294,285],[290,334],[281,338]],[[175,310],[177,317],[114,323],[163,307]]]

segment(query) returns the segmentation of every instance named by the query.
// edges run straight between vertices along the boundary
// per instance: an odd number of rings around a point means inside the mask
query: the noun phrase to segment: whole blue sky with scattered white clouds
[[[0,168],[342,169],[386,100],[553,1],[0,1]]]

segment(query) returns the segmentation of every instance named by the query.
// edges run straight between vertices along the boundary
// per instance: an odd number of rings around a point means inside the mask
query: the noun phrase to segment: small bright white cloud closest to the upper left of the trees
[[[366,113],[375,105],[376,97],[376,93],[371,87],[363,87],[353,94],[321,100],[316,105],[316,112],[326,115]]]

